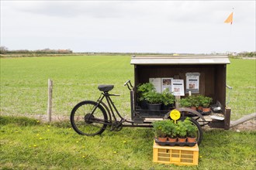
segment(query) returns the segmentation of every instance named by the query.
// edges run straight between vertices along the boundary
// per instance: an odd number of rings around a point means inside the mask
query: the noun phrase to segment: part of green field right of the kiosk
[[[236,120],[244,114],[256,112],[256,59],[230,59],[227,66],[227,84],[230,92],[231,118]]]

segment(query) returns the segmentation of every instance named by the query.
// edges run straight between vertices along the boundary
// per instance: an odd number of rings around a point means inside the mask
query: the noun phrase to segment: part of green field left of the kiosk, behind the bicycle
[[[128,106],[123,83],[133,80],[130,56],[63,56],[1,59],[1,113],[46,114],[47,80],[54,81],[53,114],[68,115],[81,100],[99,97],[99,84],[114,84],[116,104]],[[126,108],[129,112],[130,108]]]

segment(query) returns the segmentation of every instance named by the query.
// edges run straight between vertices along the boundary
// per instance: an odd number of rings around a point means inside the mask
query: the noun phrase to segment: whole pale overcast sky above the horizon
[[[255,6],[255,0],[1,0],[1,46],[74,52],[255,51]],[[233,24],[224,23],[233,8]]]

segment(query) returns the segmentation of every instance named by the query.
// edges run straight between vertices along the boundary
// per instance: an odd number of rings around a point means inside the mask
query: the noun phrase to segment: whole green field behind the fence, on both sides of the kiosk
[[[112,93],[123,115],[130,116],[130,93],[123,87],[133,81],[130,56],[20,57],[1,60],[1,114],[47,114],[47,80],[54,81],[53,114],[68,116],[81,100],[96,100],[99,84],[114,84]],[[230,59],[227,84],[231,119],[255,112],[255,59]],[[227,98],[229,96],[227,90]]]

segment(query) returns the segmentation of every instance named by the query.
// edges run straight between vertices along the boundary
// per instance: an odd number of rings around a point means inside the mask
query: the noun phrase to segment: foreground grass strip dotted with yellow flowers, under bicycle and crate
[[[255,131],[205,131],[199,166],[153,163],[150,128],[100,136],[75,134],[69,122],[0,116],[0,169],[223,169],[255,168]]]

